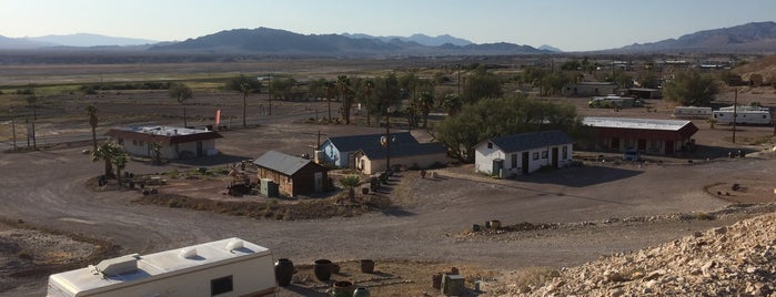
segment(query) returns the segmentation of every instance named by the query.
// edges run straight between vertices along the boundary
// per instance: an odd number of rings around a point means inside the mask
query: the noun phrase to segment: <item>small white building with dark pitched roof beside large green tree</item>
[[[572,162],[573,141],[561,131],[543,131],[494,137],[474,146],[474,170],[507,177],[544,166],[561,168]]]

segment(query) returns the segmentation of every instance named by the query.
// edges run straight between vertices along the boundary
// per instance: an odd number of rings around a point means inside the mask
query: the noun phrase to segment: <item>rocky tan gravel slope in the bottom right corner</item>
[[[776,214],[574,268],[510,296],[775,296]]]

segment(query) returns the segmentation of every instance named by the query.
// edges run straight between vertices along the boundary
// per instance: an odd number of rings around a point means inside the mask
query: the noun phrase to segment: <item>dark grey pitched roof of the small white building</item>
[[[551,130],[521,133],[487,140],[498,146],[504,153],[522,152],[532,148],[572,143],[572,139],[563,131]],[[477,145],[480,146],[480,145]]]

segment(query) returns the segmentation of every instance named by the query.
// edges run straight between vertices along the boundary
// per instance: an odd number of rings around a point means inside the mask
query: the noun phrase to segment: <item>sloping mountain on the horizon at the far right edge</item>
[[[632,44],[615,49],[622,52],[776,52],[776,22],[747,24],[698,31],[678,39]]]

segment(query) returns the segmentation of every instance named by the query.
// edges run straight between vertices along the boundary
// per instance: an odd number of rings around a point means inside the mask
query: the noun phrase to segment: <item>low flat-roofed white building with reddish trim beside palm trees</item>
[[[222,137],[214,131],[174,126],[115,127],[105,135],[135,156],[155,157],[159,144],[160,157],[168,160],[215,155],[215,140]]]

